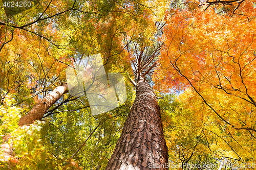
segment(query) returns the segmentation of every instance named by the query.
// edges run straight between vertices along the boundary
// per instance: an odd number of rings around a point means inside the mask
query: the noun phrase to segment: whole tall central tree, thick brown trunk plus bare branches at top
[[[139,43],[129,49],[134,53],[132,63],[137,83],[131,82],[136,88],[136,98],[106,169],[148,169],[149,166],[168,169],[163,167],[168,162],[168,151],[157,96],[145,78],[156,65],[160,49],[161,44],[153,48]]]

